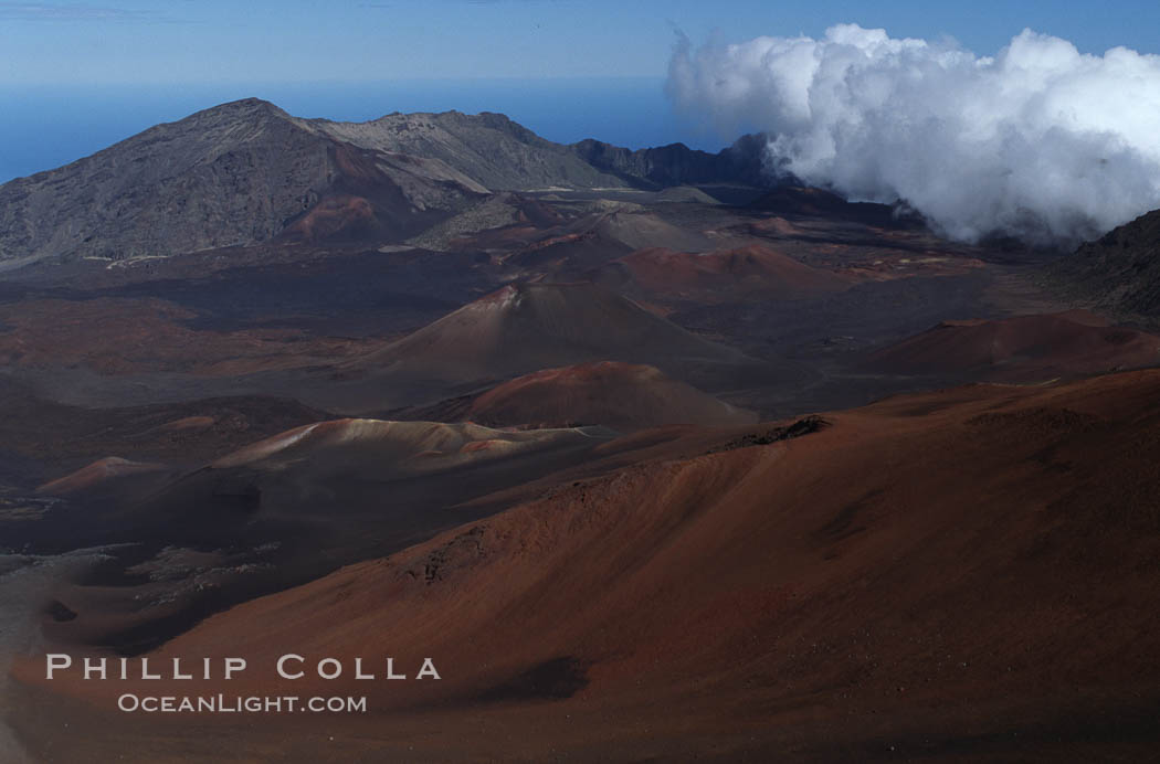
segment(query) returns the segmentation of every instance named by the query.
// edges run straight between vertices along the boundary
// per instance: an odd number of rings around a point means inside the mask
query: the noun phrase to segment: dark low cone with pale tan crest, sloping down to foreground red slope
[[[90,575],[60,582],[72,616],[49,631],[136,654],[238,602],[537,495],[537,480],[592,460],[614,435],[332,420],[197,470],[102,460],[43,486],[39,499],[57,503],[38,522],[0,512],[0,537],[41,554],[116,543]]]

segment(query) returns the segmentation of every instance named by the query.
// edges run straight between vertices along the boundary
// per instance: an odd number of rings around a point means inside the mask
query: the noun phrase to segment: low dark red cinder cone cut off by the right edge
[[[1012,381],[1093,374],[1157,363],[1160,363],[1160,337],[1108,326],[1086,311],[1000,321],[943,321],[870,357],[870,365],[893,373],[983,371],[991,379]]]

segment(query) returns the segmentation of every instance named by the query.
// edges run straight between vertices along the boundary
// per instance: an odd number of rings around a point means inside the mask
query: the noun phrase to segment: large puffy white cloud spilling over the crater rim
[[[669,65],[676,105],[763,130],[769,166],[851,198],[901,198],[944,233],[1071,242],[1160,206],[1160,57],[1079,53],[1024,30],[993,58],[842,24]]]

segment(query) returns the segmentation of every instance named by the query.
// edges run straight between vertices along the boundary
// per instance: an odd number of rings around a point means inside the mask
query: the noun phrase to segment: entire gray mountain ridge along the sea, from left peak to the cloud
[[[648,152],[554,144],[498,114],[340,123],[247,99],[0,185],[0,270],[278,239],[398,242],[493,191],[728,182],[744,166],[737,152]]]

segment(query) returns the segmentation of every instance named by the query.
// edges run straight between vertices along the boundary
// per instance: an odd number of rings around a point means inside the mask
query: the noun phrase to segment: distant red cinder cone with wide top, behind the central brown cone
[[[632,281],[652,294],[704,301],[738,294],[809,297],[850,285],[848,278],[760,245],[703,254],[640,249],[616,260],[612,267],[617,265],[626,268]]]

